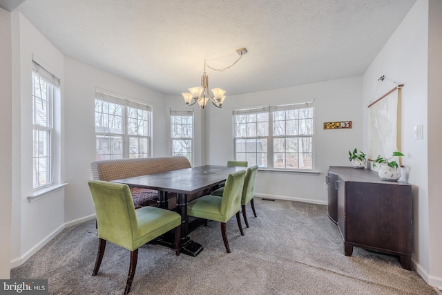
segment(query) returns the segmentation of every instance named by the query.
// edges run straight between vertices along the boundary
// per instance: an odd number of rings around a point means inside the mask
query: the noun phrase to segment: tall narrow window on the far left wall
[[[54,178],[54,99],[59,79],[32,61],[32,187],[40,189]]]

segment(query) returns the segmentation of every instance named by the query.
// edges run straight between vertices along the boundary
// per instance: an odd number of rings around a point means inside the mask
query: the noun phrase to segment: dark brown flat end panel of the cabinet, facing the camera
[[[346,190],[346,241],[411,254],[411,186],[350,182]]]

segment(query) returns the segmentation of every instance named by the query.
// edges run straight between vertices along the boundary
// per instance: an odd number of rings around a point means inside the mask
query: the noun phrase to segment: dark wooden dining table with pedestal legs
[[[162,173],[153,173],[112,180],[112,182],[128,184],[129,187],[140,187],[158,191],[158,207],[167,209],[168,193],[176,193],[177,213],[181,216],[181,252],[189,256],[197,256],[203,247],[189,237],[189,216],[187,216],[188,196],[211,191],[224,182],[230,173],[247,169],[238,166],[205,165],[188,169],[179,169]],[[159,240],[160,244],[173,247],[173,241]]]

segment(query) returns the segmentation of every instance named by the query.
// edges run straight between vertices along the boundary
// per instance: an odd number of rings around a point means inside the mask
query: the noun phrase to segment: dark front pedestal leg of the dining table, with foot
[[[181,215],[181,253],[197,256],[203,248],[202,245],[193,242],[187,236],[189,234],[189,217],[187,216],[187,195],[185,193],[178,193],[177,213]]]

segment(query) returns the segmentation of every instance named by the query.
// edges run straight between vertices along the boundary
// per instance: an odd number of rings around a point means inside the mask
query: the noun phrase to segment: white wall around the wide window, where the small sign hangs
[[[171,97],[171,99],[173,99]],[[233,158],[233,108],[315,101],[315,171],[319,175],[259,171],[256,195],[327,203],[325,174],[330,165],[349,166],[348,151],[362,148],[362,77],[305,84],[271,91],[228,96],[222,108],[211,104],[206,114],[206,164],[224,165]],[[175,97],[176,105],[184,104]],[[323,130],[324,122],[353,121],[352,129]]]

